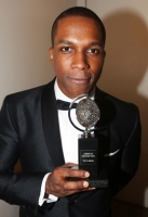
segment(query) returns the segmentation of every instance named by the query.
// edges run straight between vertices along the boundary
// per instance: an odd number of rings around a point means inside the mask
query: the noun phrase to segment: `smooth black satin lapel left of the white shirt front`
[[[50,82],[42,94],[42,123],[49,154],[54,167],[65,164],[58,126],[54,80]]]

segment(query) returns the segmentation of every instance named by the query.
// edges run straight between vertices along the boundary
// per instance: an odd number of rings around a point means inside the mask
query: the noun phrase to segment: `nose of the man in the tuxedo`
[[[83,52],[77,52],[72,56],[72,63],[71,63],[72,68],[78,68],[80,71],[84,71],[90,68],[90,64],[86,58],[86,54]]]

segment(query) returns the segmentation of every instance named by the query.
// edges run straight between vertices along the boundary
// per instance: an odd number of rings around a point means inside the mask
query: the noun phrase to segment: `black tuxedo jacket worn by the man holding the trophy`
[[[110,216],[111,197],[137,170],[139,115],[134,104],[98,89],[95,101],[100,108],[96,137],[109,187],[62,197],[40,207],[38,200],[44,175],[65,163],[54,80],[5,98],[0,112],[0,199],[21,205],[21,217]],[[23,171],[14,174],[18,158]]]

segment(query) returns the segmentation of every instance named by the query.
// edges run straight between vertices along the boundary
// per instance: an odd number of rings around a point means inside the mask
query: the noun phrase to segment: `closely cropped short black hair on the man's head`
[[[89,17],[89,18],[96,21],[99,28],[102,29],[103,41],[105,44],[106,29],[105,29],[105,26],[104,26],[103,22],[100,21],[100,18],[90,9],[86,9],[84,7],[73,7],[73,8],[67,9],[66,11],[62,12],[54,21],[53,26],[52,26],[52,31],[51,31],[52,46],[54,46],[54,37],[57,31],[58,21],[64,17],[68,17],[68,16],[83,16],[83,17]]]

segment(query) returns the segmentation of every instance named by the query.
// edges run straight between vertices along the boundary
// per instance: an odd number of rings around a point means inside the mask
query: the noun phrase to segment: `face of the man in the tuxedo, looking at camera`
[[[94,20],[68,16],[58,22],[50,60],[57,84],[67,97],[73,99],[93,89],[104,59],[103,36]]]

